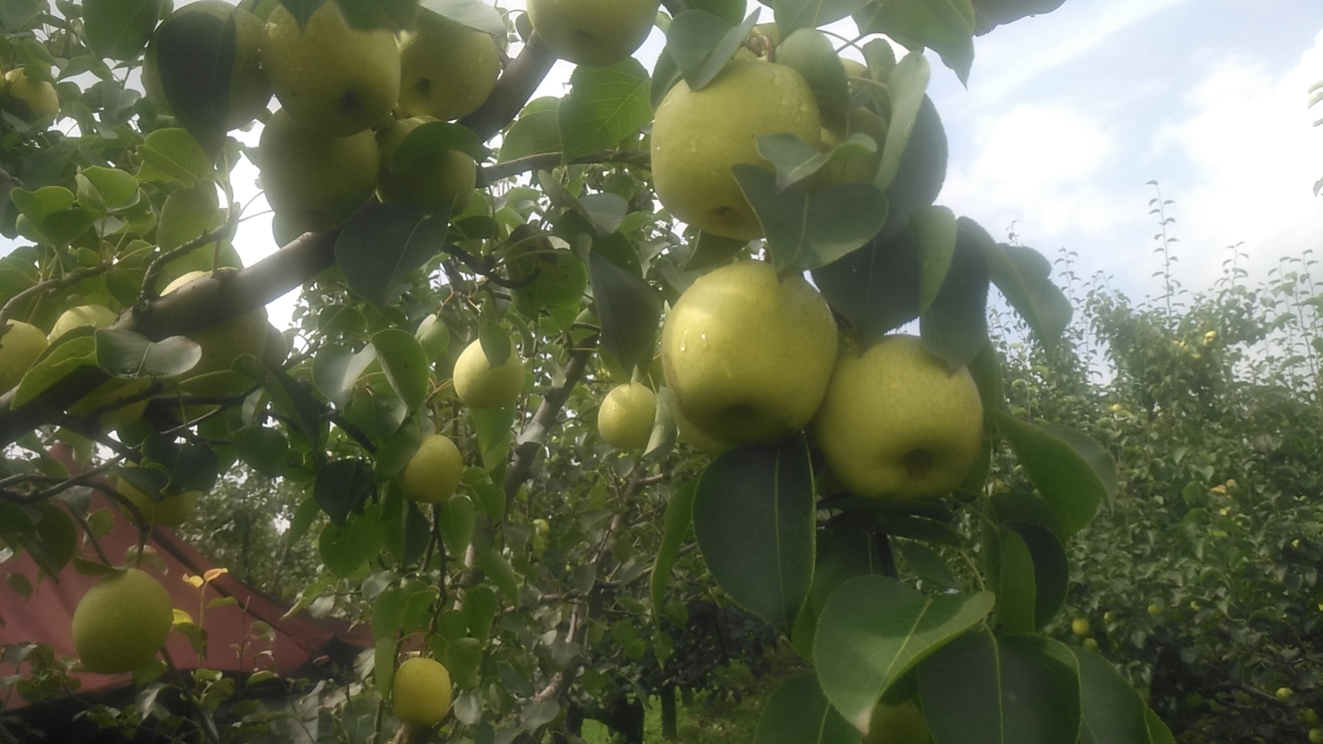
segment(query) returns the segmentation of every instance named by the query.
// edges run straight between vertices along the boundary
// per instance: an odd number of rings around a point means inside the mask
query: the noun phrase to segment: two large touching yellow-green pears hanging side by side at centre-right
[[[950,492],[983,445],[983,405],[964,368],[913,336],[837,351],[836,324],[800,275],[740,261],[699,278],[667,315],[662,365],[681,438],[703,451],[775,445],[810,429],[851,492]]]

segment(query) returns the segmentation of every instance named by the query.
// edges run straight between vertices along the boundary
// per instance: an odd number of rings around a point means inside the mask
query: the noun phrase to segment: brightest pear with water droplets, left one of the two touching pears
[[[734,446],[774,445],[803,429],[835,364],[827,302],[803,277],[781,281],[761,261],[700,277],[662,330],[662,367],[680,416]]]

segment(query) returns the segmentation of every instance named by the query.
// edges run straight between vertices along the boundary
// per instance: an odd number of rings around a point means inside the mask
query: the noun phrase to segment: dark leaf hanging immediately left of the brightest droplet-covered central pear
[[[624,369],[651,356],[662,299],[642,278],[593,250],[587,261],[593,303],[602,322],[602,347]]]

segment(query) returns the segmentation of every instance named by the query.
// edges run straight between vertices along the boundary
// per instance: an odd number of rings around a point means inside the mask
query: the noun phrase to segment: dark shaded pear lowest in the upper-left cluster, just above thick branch
[[[329,230],[353,216],[377,187],[381,167],[372,131],[327,136],[284,109],[262,128],[258,159],[266,200],[295,236]]]

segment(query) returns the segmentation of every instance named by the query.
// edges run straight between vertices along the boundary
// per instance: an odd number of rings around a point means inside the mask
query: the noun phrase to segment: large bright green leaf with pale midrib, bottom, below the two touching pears
[[[886,576],[844,581],[818,616],[814,665],[823,691],[856,728],[868,728],[882,692],[987,617],[992,604],[988,592],[927,597]]]

